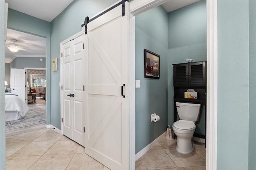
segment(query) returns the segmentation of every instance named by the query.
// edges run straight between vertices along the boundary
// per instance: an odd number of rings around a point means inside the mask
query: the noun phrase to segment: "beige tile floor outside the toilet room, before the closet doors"
[[[28,169],[108,170],[84,147],[46,128],[6,137],[6,170]]]

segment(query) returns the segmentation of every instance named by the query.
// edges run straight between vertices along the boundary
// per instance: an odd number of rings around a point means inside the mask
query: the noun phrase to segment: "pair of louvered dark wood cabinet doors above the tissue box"
[[[173,65],[174,87],[206,86],[206,62]]]

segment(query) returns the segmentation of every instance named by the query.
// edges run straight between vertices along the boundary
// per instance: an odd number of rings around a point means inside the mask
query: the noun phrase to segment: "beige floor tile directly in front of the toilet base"
[[[190,154],[181,154],[176,149],[165,149],[165,151],[178,168],[206,165],[206,160],[195,151]]]

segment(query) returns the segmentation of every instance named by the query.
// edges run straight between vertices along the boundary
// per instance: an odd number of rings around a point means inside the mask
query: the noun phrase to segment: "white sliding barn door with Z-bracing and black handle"
[[[89,22],[86,35],[85,152],[112,170],[129,169],[128,2],[125,6],[125,16],[120,5]]]

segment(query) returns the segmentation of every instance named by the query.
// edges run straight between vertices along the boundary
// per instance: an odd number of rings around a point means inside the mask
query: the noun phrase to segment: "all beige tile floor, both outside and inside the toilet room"
[[[135,162],[136,170],[205,170],[206,149],[195,142],[190,154],[176,151],[177,140],[163,138]],[[42,128],[6,137],[7,170],[109,170],[84,153],[84,147]]]

